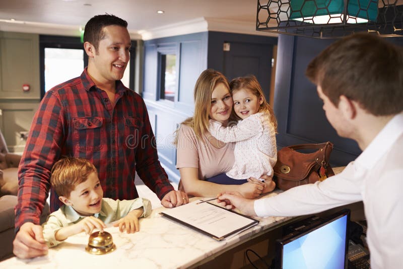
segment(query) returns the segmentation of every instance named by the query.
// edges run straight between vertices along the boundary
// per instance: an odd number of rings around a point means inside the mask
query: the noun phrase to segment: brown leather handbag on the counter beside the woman
[[[329,164],[333,144],[301,144],[284,147],[277,153],[277,163],[274,170],[274,180],[277,187],[287,190],[292,187],[323,181],[334,175]],[[298,150],[315,150],[312,153],[302,153]]]

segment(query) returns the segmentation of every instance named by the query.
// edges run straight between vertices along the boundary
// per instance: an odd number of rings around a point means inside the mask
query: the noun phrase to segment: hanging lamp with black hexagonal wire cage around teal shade
[[[256,30],[315,38],[403,35],[397,0],[258,0]]]

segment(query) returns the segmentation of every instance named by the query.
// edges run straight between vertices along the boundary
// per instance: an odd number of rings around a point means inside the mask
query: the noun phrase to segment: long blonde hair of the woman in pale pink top
[[[200,74],[194,85],[194,114],[193,117],[185,119],[181,124],[191,127],[198,139],[201,138],[203,133],[209,130],[211,95],[216,85],[220,83],[223,83],[228,90],[230,89],[228,80],[223,74],[214,69],[206,69]],[[175,131],[175,145],[178,142],[177,131]]]

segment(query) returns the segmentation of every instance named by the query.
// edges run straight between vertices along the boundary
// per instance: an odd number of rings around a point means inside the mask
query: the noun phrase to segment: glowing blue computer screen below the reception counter
[[[283,246],[283,268],[344,268],[348,216],[308,232]]]

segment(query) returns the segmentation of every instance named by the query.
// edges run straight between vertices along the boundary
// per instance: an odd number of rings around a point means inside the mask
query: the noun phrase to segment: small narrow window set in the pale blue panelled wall
[[[175,101],[178,89],[177,57],[175,48],[159,49],[159,100]]]

